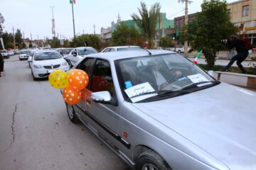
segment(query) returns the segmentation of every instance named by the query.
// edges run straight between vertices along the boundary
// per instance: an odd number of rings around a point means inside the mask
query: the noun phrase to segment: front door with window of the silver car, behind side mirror
[[[90,86],[82,90],[82,98],[85,101],[85,119],[108,142],[120,149],[124,145],[119,131],[120,106],[117,103],[96,103],[91,99],[92,92],[109,91],[112,98],[116,100],[110,63],[106,60],[95,59],[89,72]]]

